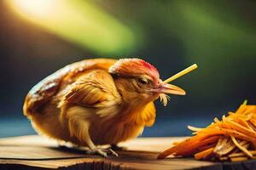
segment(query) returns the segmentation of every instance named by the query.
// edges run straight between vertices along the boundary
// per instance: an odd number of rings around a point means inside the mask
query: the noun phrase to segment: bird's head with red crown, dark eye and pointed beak
[[[143,59],[119,59],[109,68],[125,102],[147,104],[160,99],[167,105],[167,94],[184,95],[185,91],[160,79],[157,69]]]

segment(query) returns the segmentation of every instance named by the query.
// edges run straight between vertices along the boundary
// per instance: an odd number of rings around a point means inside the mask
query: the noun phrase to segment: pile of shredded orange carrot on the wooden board
[[[245,161],[256,159],[256,105],[245,101],[236,112],[228,112],[222,120],[206,128],[190,127],[195,134],[158,156],[195,156],[197,160]]]

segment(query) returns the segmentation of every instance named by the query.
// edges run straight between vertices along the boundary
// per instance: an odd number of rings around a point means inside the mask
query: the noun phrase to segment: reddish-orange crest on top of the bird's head
[[[114,65],[109,68],[109,72],[119,75],[148,75],[154,80],[159,79],[159,72],[143,59],[119,59]]]

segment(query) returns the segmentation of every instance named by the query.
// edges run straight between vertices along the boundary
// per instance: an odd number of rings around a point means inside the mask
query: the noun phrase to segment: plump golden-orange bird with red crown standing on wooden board
[[[163,82],[143,59],[84,59],[55,71],[26,95],[24,115],[38,134],[88,148],[87,154],[118,156],[103,144],[137,138],[154,125],[154,100],[183,88]]]

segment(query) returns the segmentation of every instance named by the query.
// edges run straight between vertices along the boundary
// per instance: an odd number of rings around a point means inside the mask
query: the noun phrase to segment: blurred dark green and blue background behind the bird
[[[254,1],[54,2],[0,2],[0,137],[34,133],[22,114],[29,89],[88,58],[139,57],[162,79],[199,65],[172,82],[187,95],[155,102],[156,123],[143,136],[189,135],[187,125],[206,126],[244,99],[256,104]]]

